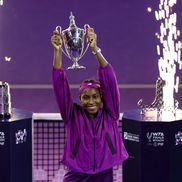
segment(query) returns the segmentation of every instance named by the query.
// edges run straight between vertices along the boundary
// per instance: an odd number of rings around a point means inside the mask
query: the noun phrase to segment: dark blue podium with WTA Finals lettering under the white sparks
[[[127,111],[122,118],[123,141],[130,156],[123,163],[123,182],[181,182],[182,111],[175,121],[157,121],[140,112]]]

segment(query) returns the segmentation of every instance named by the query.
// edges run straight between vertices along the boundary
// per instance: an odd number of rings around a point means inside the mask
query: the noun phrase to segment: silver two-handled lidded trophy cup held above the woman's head
[[[75,24],[75,17],[72,12],[70,13],[70,24],[69,27],[61,31],[61,26],[57,26],[56,30],[60,33],[65,51],[63,53],[73,62],[73,65],[68,69],[82,69],[85,68],[78,64],[78,61],[83,57],[88,49],[88,44],[84,50],[84,40],[86,29],[90,27],[88,24],[84,25],[84,29],[78,28]]]

